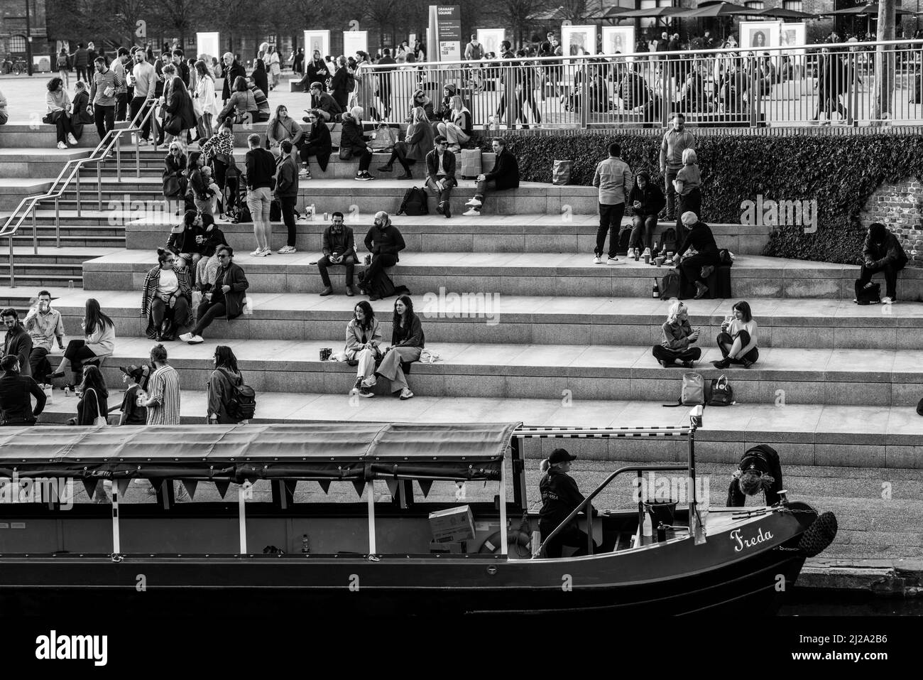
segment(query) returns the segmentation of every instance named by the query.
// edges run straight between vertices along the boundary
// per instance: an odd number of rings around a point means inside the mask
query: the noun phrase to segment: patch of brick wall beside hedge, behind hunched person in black
[[[896,184],[882,184],[859,213],[862,226],[886,225],[900,240],[910,261],[908,267],[923,269],[923,185],[914,177]]]

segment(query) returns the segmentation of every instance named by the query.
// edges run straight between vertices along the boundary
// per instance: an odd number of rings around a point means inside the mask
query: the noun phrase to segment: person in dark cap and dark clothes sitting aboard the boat
[[[583,494],[577,488],[577,482],[568,474],[570,461],[576,458],[576,455],[570,455],[566,449],[555,449],[542,461],[542,471],[545,472],[545,476],[538,484],[539,491],[542,493],[542,510],[539,514],[541,518],[538,528],[545,540],[584,500]],[[593,505],[589,507],[593,516],[599,514]],[[585,507],[583,510],[586,512]],[[555,538],[547,540],[545,555],[560,557],[565,545],[578,549],[574,555],[586,554],[587,535],[585,531],[578,528],[576,518],[571,520],[567,527],[562,528]],[[599,546],[593,541],[593,552],[597,548]]]

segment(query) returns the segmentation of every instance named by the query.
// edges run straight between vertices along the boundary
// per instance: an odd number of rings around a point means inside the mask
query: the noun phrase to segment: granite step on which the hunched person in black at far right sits
[[[322,289],[316,265],[318,253],[297,252],[253,258],[250,244],[237,244],[240,264],[254,293],[318,293]],[[124,250],[84,263],[88,290],[139,290],[154,265],[153,250]],[[391,271],[396,285],[407,285],[420,296],[440,287],[462,293],[567,297],[648,297],[664,267],[619,259],[617,264],[593,264],[589,254],[547,252],[404,252]],[[331,269],[331,282],[342,290],[342,268]],[[736,298],[822,297],[853,299],[858,267],[846,264],[786,260],[758,255],[737,257],[731,273]],[[923,300],[923,270],[905,269],[898,297]],[[881,309],[881,308],[879,308]],[[882,312],[887,313],[887,312]]]

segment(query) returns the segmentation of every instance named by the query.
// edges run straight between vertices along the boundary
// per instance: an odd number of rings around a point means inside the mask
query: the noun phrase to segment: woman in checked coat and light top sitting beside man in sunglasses
[[[157,249],[157,266],[144,278],[141,316],[148,318],[145,334],[157,342],[173,340],[176,331],[192,323],[189,270],[177,264],[170,250]]]

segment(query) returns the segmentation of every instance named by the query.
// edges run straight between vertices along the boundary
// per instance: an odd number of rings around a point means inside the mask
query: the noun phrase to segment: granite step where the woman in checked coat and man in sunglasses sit
[[[147,321],[138,316],[139,291],[65,291],[54,308],[67,328],[78,328],[87,297],[100,301],[119,337],[139,337]],[[357,300],[339,294],[250,293],[252,313],[222,334],[240,340],[326,340],[342,334]],[[750,298],[761,347],[918,349],[923,303],[890,308],[859,307],[847,300]],[[555,345],[659,345],[667,305],[650,297],[525,297],[472,299],[414,297],[429,342]],[[370,303],[390,322],[394,299]],[[712,345],[730,313],[725,300],[689,300],[689,321]],[[891,310],[882,314],[882,309]]]

